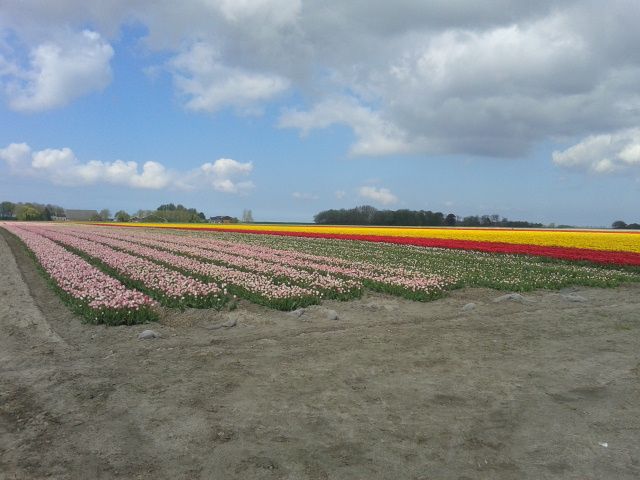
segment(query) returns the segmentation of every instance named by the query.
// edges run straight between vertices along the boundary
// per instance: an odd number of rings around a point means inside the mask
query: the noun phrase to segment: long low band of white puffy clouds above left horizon
[[[254,188],[250,180],[237,181],[253,171],[252,163],[229,158],[202,164],[187,172],[167,169],[158,162],[115,160],[80,162],[69,148],[33,151],[26,143],[12,143],[0,149],[0,159],[13,175],[35,176],[54,185],[79,186],[111,184],[130,188],[159,190],[163,188],[213,188],[222,193],[246,194]]]

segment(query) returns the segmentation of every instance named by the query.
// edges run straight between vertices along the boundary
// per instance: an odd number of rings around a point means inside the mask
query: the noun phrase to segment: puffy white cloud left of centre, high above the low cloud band
[[[187,97],[186,107],[194,111],[236,107],[253,113],[261,102],[289,88],[289,81],[279,75],[225,66],[216,50],[203,42],[193,44],[170,64],[178,92]]]

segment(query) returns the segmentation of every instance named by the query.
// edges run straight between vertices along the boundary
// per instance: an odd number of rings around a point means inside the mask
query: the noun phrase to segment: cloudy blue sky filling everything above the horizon
[[[640,221],[637,0],[8,0],[0,200]]]

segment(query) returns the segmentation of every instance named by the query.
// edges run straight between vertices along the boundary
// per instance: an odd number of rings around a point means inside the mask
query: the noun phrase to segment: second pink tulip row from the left
[[[133,280],[140,288],[166,305],[217,306],[226,300],[224,292],[214,283],[204,283],[144,258],[68,235],[62,228],[28,228],[97,259],[116,275]]]

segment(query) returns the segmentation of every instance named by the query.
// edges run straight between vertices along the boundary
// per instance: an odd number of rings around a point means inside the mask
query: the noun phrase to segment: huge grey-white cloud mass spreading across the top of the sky
[[[640,124],[634,0],[5,3],[0,75],[22,110],[103,88],[112,49],[102,38],[133,23],[148,32],[146,48],[172,58],[162,68],[187,109],[255,113],[294,91],[302,101],[280,125],[345,125],[354,155],[521,157],[541,142]],[[4,60],[3,40],[31,63]],[[76,61],[85,50],[95,57]]]

